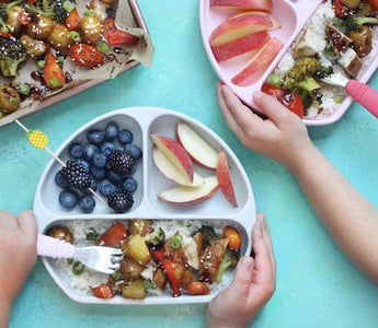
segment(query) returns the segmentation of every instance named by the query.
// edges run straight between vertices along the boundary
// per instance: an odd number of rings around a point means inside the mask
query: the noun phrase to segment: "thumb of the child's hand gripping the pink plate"
[[[270,96],[261,91],[255,91],[253,101],[268,118],[271,118],[276,126],[284,124],[291,116],[296,116],[280,104],[275,97]]]

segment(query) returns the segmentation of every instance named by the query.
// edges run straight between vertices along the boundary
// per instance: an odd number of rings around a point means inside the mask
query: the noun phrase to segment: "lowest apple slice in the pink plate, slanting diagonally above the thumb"
[[[283,44],[277,38],[271,38],[264,47],[249,61],[249,63],[232,78],[231,82],[236,85],[249,85],[259,80],[264,69],[266,69],[274,58],[278,55]]]

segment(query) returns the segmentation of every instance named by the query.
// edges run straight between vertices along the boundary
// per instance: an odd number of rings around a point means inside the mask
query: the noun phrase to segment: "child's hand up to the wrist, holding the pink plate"
[[[254,102],[268,119],[264,120],[244,106],[227,85],[218,84],[222,115],[240,141],[250,150],[290,167],[299,164],[312,148],[301,119],[274,97],[255,92]]]

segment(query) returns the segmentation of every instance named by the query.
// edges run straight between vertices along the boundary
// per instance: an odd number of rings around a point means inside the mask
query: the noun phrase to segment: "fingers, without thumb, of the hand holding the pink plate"
[[[259,125],[263,124],[264,120],[244,106],[227,85],[222,85],[220,91],[236,124],[244,133],[248,134],[248,131],[255,130]]]

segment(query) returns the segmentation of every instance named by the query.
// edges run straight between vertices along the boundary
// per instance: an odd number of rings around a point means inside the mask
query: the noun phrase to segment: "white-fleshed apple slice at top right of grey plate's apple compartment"
[[[194,163],[211,171],[217,168],[217,152],[183,121],[177,124],[176,139]]]

